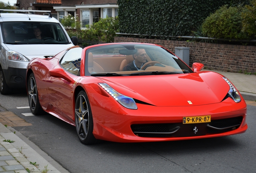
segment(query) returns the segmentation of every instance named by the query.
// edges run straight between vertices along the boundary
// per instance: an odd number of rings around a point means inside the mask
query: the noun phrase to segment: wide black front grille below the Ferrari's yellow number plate
[[[211,123],[183,124],[183,123],[161,123],[161,124],[134,124],[131,125],[132,132],[139,137],[189,137],[206,134],[223,133],[237,129],[242,123],[243,117],[213,120]],[[198,132],[194,133],[194,127]]]

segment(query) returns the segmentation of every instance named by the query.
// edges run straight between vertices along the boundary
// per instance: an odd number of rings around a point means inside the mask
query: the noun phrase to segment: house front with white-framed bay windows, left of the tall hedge
[[[72,14],[82,22],[82,27],[99,21],[99,18],[118,16],[117,0],[62,0],[61,6],[54,6],[59,21]]]

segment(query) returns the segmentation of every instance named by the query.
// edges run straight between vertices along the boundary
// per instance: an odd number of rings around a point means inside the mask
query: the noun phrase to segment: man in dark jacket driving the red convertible
[[[140,68],[147,62],[145,49],[137,49],[136,54],[133,55],[134,61],[124,67],[124,71],[140,70]]]

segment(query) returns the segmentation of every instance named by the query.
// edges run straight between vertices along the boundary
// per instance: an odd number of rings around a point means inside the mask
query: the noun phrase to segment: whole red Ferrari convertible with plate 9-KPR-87
[[[68,48],[27,66],[31,112],[76,127],[80,141],[173,141],[244,133],[246,103],[225,76],[155,44]]]

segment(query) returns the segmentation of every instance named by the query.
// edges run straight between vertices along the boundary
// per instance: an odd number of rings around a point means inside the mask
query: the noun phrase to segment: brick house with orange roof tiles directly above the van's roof
[[[52,16],[57,18],[57,12],[53,6],[61,6],[61,0],[17,0],[14,4],[19,10],[47,10],[51,11]],[[47,13],[36,12],[36,14],[48,15]]]

